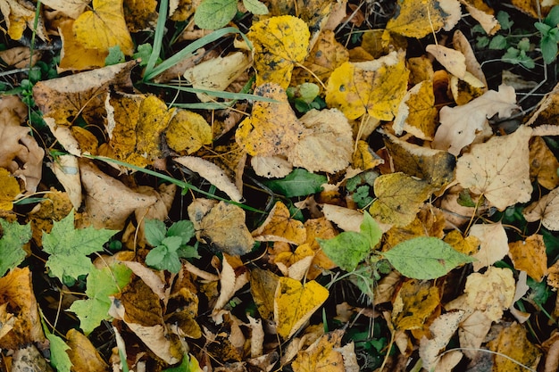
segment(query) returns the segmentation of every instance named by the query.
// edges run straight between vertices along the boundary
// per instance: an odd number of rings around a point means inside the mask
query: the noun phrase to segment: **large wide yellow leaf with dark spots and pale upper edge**
[[[392,120],[407,90],[405,53],[392,52],[371,62],[345,62],[330,75],[326,103],[355,120],[369,113]]]

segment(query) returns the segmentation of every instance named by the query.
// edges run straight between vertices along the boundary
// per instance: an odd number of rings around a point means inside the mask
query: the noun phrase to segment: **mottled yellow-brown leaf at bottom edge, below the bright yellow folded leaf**
[[[346,372],[344,357],[339,351],[344,331],[322,335],[311,347],[297,352],[291,367],[295,372]]]

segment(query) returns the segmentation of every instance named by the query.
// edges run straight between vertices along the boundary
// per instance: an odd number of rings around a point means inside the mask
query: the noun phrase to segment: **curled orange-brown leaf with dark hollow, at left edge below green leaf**
[[[0,277],[0,303],[0,348],[17,350],[45,342],[29,268],[15,268]]]

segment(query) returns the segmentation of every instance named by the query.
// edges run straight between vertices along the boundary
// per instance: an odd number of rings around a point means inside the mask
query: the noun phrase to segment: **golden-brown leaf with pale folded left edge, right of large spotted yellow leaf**
[[[392,128],[397,136],[406,131],[418,138],[432,140],[437,113],[433,83],[421,81],[405,93]]]

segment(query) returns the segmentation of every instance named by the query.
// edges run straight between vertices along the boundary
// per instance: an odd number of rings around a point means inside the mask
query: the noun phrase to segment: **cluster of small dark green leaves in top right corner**
[[[480,25],[473,28],[474,33],[480,34],[476,38],[476,46],[480,49],[504,50],[505,54],[501,61],[519,64],[527,69],[536,67],[532,57],[535,43],[530,37],[539,37],[539,51],[546,64],[554,62],[557,55],[557,43],[559,43],[559,6],[555,5],[541,22],[535,22],[533,30],[513,29],[514,21],[509,13],[497,12],[496,19],[501,29],[493,37],[489,37]],[[531,55],[530,55],[531,54]]]

